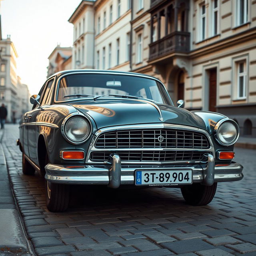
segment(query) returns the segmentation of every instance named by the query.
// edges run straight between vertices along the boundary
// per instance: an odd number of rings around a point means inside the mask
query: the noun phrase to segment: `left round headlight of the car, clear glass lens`
[[[66,121],[66,122],[65,122]],[[74,116],[64,120],[64,130],[62,134],[68,142],[80,144],[86,141],[90,135],[90,124],[88,121],[80,116]]]

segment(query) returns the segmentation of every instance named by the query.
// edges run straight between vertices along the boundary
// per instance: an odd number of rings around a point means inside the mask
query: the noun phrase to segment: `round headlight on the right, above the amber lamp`
[[[238,125],[232,120],[216,124],[216,140],[225,146],[232,145],[236,142],[239,135]]]

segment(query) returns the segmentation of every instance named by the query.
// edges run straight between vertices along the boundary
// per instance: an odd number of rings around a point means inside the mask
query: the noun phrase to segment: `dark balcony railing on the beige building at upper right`
[[[190,33],[176,31],[149,44],[149,60],[154,60],[173,52],[187,53],[189,50]]]

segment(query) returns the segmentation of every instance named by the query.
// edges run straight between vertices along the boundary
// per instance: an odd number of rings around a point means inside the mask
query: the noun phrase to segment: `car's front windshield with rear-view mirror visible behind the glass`
[[[166,91],[158,81],[116,74],[70,74],[64,76],[58,85],[57,100],[90,99],[92,96],[100,95],[103,95],[100,99],[116,98],[118,95],[114,96],[114,94],[171,104]]]

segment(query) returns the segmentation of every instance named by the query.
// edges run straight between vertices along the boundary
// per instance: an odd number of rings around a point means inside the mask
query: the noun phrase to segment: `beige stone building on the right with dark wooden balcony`
[[[174,104],[220,112],[256,137],[256,1],[134,0],[132,14],[133,72],[160,78]]]

